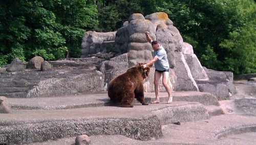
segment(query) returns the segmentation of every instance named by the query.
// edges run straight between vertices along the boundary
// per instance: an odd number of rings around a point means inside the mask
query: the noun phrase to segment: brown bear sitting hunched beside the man
[[[144,101],[143,79],[148,77],[150,67],[143,69],[141,65],[144,64],[137,64],[110,81],[108,95],[112,101],[121,102],[122,107],[133,107],[136,98],[142,105],[148,105]]]

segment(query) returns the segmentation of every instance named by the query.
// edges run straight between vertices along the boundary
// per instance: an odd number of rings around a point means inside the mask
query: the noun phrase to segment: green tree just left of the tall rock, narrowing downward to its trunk
[[[44,5],[56,16],[62,28],[60,33],[66,40],[71,57],[80,57],[83,33],[98,26],[98,10],[95,1],[59,0],[44,1]]]

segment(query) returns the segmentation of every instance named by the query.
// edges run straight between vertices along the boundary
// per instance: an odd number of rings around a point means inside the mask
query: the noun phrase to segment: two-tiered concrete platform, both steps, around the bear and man
[[[167,102],[167,93],[160,95],[159,104],[141,105],[134,101],[133,108],[114,104],[107,92],[9,98],[14,110],[12,114],[0,116],[0,143],[24,144],[81,134],[124,135],[137,140],[151,140],[162,136],[162,125],[208,119],[209,113],[201,103],[219,105],[217,98],[209,93],[173,92],[172,104],[164,103]],[[154,98],[155,93],[145,93],[147,102]],[[200,100],[206,101],[199,103]]]

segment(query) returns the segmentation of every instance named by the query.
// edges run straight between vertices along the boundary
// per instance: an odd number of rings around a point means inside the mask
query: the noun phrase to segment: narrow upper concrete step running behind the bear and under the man
[[[155,93],[145,93],[145,101],[150,103],[155,100]],[[168,94],[161,92],[160,101],[167,103]],[[204,92],[173,92],[173,101],[199,102],[203,105],[219,105],[216,96]],[[13,109],[72,109],[99,106],[118,106],[108,97],[108,92],[92,92],[87,94],[44,97],[44,98],[8,98]],[[139,103],[134,101],[134,103]]]

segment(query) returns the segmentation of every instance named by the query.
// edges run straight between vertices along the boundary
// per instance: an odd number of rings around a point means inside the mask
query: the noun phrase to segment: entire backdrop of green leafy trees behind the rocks
[[[165,12],[201,64],[235,74],[256,73],[256,4],[252,0],[3,0],[0,66],[15,57],[80,57],[86,31],[117,31],[133,13]]]

